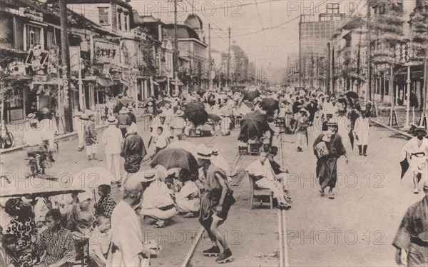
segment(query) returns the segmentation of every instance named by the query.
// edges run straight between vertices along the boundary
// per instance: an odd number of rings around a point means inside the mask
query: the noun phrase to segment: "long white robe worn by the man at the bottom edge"
[[[111,231],[111,241],[118,246],[118,251],[109,253],[107,266],[142,266],[140,253],[144,248],[140,220],[125,201],[119,202],[111,214]]]

